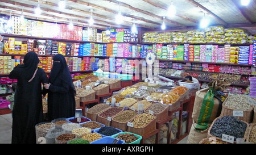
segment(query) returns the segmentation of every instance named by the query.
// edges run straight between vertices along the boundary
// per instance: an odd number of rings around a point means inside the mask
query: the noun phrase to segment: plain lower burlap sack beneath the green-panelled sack
[[[208,129],[199,132],[195,130],[196,125],[195,122],[191,125],[187,144],[199,144],[202,139],[208,137]]]

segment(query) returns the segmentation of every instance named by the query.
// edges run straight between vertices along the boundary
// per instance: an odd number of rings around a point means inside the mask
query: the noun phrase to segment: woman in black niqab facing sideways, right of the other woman
[[[52,60],[49,84],[44,84],[48,89],[48,120],[74,117],[76,91],[67,61],[60,54],[53,56]]]

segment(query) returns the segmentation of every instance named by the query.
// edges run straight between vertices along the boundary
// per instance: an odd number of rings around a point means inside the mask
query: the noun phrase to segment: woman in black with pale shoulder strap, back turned
[[[13,144],[35,144],[35,125],[44,121],[42,83],[48,83],[46,72],[38,68],[38,55],[28,52],[24,56],[24,64],[15,66],[9,78],[17,79],[13,108]]]

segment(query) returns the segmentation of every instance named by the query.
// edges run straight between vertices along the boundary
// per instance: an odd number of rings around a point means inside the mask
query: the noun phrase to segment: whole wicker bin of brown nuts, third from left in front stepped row
[[[130,113],[129,116],[127,116],[128,113]],[[137,115],[138,115],[138,112],[133,110],[125,110],[125,111],[119,112],[117,115],[113,116],[111,125],[112,127],[121,129],[122,131],[127,131],[127,123]],[[123,119],[125,119],[122,122],[117,120],[117,118],[121,116]]]

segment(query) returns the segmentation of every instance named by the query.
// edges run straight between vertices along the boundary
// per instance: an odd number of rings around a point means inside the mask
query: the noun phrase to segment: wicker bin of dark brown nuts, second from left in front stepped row
[[[121,111],[123,111],[123,109],[120,107],[110,107],[98,114],[97,122],[110,126],[112,120],[109,120],[108,118],[112,118],[114,115],[117,115]]]

